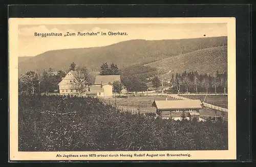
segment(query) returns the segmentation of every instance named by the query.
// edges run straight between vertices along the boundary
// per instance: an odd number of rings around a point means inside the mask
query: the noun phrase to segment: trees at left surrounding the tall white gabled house
[[[76,67],[73,62],[70,64],[69,71],[75,71],[74,77],[76,80],[73,82],[74,89],[80,93],[83,90],[83,86],[86,83],[92,83],[92,77],[90,76],[86,67]],[[58,92],[58,83],[65,77],[68,72],[58,70],[53,72],[53,69],[44,69],[39,73],[38,71],[28,71],[22,74],[18,79],[19,94],[36,94],[41,92]]]

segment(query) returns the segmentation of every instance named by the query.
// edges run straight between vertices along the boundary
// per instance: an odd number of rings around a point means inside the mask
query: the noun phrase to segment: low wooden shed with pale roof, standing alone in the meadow
[[[200,100],[161,100],[154,101],[152,104],[156,107],[156,113],[162,118],[181,118],[198,116],[203,103]],[[191,115],[192,114],[192,115]]]

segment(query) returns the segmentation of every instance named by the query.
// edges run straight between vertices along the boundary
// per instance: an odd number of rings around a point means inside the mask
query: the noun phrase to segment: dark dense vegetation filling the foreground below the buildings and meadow
[[[144,118],[98,99],[19,96],[19,151],[227,150],[227,124]]]

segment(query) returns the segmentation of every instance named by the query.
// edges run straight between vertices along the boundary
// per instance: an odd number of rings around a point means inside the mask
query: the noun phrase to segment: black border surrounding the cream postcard
[[[251,55],[251,46],[252,46],[251,45],[251,23],[252,23],[251,10],[252,9],[249,4],[240,4],[240,5],[239,4],[238,5],[79,5],[79,6],[78,5],[68,5],[68,6],[66,5],[51,5],[51,6],[12,5],[8,7],[8,13],[9,13],[8,18],[9,17],[236,17],[237,158],[238,159],[235,161],[250,161],[252,159],[252,154],[251,154],[251,100],[252,100],[251,99],[251,72],[252,72],[251,71],[251,57],[252,57]],[[7,92],[7,94],[8,93],[9,92]],[[8,102],[10,103],[9,100]],[[1,124],[3,124],[3,122]],[[8,135],[9,134],[7,134],[7,136]],[[8,137],[8,140],[9,140],[9,137]],[[189,162],[197,162],[197,161],[198,160],[193,160]],[[204,160],[204,162],[205,161],[207,160]],[[216,162],[216,161],[224,161],[224,160],[209,160],[209,161]],[[23,161],[23,162],[26,162],[26,161]],[[29,161],[29,162],[32,162],[32,161]],[[33,161],[33,162],[38,162],[38,161]],[[53,162],[53,161],[46,161],[46,162]],[[54,162],[59,162],[59,161],[54,161]],[[96,162],[96,161],[90,161],[90,162]],[[127,162],[131,162],[131,161],[127,161]],[[146,162],[159,162],[159,161],[146,161]],[[175,161],[172,161],[172,162],[175,162]],[[180,162],[183,162],[183,161],[180,161]]]

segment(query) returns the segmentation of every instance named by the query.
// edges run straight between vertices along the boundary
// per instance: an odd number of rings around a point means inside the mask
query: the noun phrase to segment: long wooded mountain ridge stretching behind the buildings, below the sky
[[[209,37],[194,39],[172,39],[172,40],[129,40],[115,43],[108,46],[91,47],[82,49],[54,50],[39,54],[34,57],[19,57],[18,69],[19,75],[29,70],[42,70],[51,67],[53,71],[68,70],[71,62],[77,66],[86,66],[91,71],[99,71],[100,65],[104,62],[115,63],[119,69],[129,68],[130,66],[141,66],[147,64],[152,67],[166,66],[166,62],[172,61],[174,64],[180,64],[179,60],[184,60],[190,64],[190,67],[196,70],[198,68],[198,59],[208,60],[209,55],[198,54],[194,60],[194,54],[191,52],[217,47],[221,52],[227,49],[227,37]],[[218,47],[222,46],[222,47]],[[210,49],[216,50],[216,49]],[[198,51],[199,52],[199,51]],[[188,54],[191,53],[191,54]],[[182,55],[182,56],[181,56]],[[178,59],[178,57],[180,57]],[[204,61],[204,67],[210,64],[220,66],[219,71],[225,70],[225,63],[219,62],[219,54],[210,54],[211,60]],[[224,56],[225,58],[227,56]],[[180,64],[180,66],[185,64]],[[183,67],[183,68],[184,68]],[[203,69],[202,70],[207,70]],[[168,68],[166,68],[168,69]],[[216,71],[217,69],[212,69]],[[207,72],[207,71],[205,71]]]

